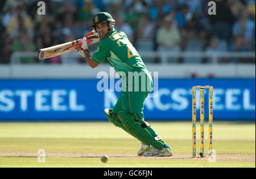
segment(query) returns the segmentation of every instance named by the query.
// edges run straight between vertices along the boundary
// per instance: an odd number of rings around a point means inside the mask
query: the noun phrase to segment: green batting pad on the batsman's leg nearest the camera
[[[119,119],[122,121],[123,126],[129,131],[129,134],[133,134],[135,138],[141,140],[144,144],[150,146],[152,145],[154,148],[162,149],[164,142],[163,140],[155,140],[155,138],[144,130],[144,128],[137,124],[133,117],[125,113],[125,111],[119,111],[118,113]]]

